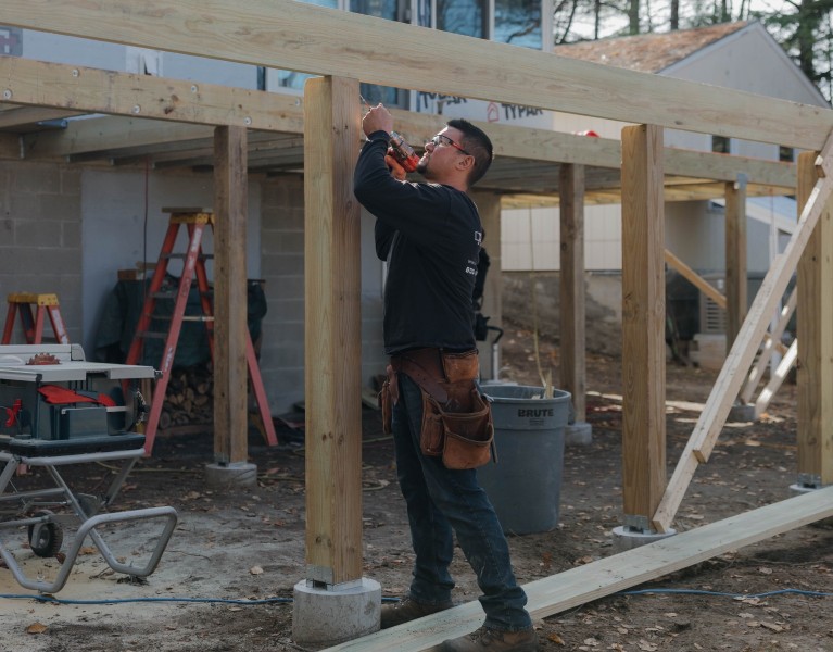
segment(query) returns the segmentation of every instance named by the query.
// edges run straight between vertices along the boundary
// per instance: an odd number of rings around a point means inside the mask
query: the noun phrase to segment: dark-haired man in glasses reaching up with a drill
[[[386,155],[393,118],[381,104],[362,122],[367,142],[355,171],[355,196],[376,221],[376,251],[388,261],[384,349],[399,359],[433,350],[466,354],[476,348],[471,292],[483,228],[466,193],[485,174],[492,143],[479,128],[452,120],[426,143],[417,172],[427,181],[405,181],[405,171]],[[476,471],[452,471],[420,449],[422,390],[419,378],[401,372],[392,409],[396,469],[407,504],[416,553],[407,598],[382,609],[381,627],[393,627],[453,606],[449,565],[452,530],[477,574],[485,622],[476,632],[446,640],[446,652],[538,649],[517,585],[506,538]]]

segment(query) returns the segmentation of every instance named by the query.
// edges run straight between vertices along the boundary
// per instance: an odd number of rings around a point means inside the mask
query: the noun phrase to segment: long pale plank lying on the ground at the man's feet
[[[527,609],[532,617],[546,618],[831,515],[833,487],[817,489],[526,584]],[[482,619],[480,604],[468,602],[326,652],[439,650],[443,640],[475,630]]]

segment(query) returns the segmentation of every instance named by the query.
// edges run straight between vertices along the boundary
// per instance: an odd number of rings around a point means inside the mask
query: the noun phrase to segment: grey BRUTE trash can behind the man
[[[540,399],[541,387],[523,385],[483,385],[483,392],[492,399],[497,464],[478,468],[480,486],[504,532],[548,531],[558,525],[570,394],[556,389]]]

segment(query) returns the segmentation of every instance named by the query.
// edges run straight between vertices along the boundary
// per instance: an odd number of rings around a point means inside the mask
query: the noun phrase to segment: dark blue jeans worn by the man
[[[485,625],[505,631],[529,629],[527,595],[516,580],[509,547],[494,507],[477,481],[475,469],[445,468],[441,457],[419,449],[422,393],[400,373],[400,397],[393,406],[396,473],[405,497],[411,539],[416,553],[411,598],[426,604],[451,601],[449,573],[454,554],[452,528],[483,594]]]

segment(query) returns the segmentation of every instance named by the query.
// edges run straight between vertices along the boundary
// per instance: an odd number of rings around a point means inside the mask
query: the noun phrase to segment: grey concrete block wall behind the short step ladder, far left
[[[70,341],[81,337],[81,172],[66,165],[0,161],[0,300],[55,293]],[[47,322],[45,341],[51,341]],[[20,321],[12,343],[25,343]]]

